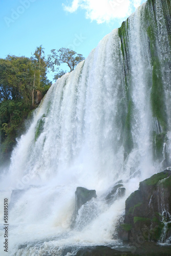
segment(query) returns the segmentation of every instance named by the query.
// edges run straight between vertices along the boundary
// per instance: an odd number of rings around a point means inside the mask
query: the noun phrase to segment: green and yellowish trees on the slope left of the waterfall
[[[72,70],[84,59],[81,54],[61,48],[57,63],[72,62]],[[54,50],[52,50],[55,54]],[[67,55],[68,53],[68,55]],[[0,161],[8,161],[12,148],[16,144],[16,137],[25,132],[25,120],[32,116],[41,99],[49,90],[52,82],[47,78],[50,65],[44,56],[44,48],[36,47],[34,54],[28,58],[8,55],[0,59]],[[63,56],[63,57],[62,57]],[[70,57],[74,56],[74,60]],[[67,59],[68,58],[68,59]],[[55,60],[57,61],[57,60]],[[70,62],[69,62],[70,63]],[[54,63],[51,63],[53,68]],[[65,72],[60,72],[60,77]],[[48,103],[50,108],[50,102]],[[44,127],[45,117],[38,121],[35,140]]]

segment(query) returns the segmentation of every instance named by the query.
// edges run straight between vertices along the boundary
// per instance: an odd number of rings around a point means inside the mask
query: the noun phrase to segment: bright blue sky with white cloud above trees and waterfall
[[[87,57],[143,0],[0,0],[0,58],[30,57],[37,46]],[[65,68],[64,68],[65,69]],[[67,70],[67,67],[66,67]]]

